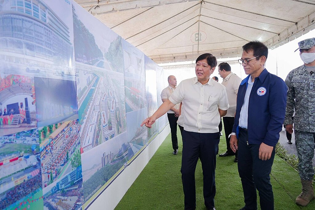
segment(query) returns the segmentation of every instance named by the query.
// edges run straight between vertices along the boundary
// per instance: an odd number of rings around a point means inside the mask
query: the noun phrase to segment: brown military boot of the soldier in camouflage
[[[312,180],[302,180],[302,192],[299,196],[296,197],[295,203],[300,206],[307,206],[307,204],[314,200],[314,190],[312,185]]]

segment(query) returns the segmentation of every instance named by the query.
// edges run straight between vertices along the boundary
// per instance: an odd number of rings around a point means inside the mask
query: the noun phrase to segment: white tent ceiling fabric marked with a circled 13
[[[315,28],[314,0],[75,1],[157,63],[237,57],[248,41],[274,48]]]

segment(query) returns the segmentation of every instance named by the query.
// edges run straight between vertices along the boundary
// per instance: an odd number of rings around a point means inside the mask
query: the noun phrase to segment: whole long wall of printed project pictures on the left
[[[163,69],[71,0],[0,23],[0,209],[89,208],[164,128]]]

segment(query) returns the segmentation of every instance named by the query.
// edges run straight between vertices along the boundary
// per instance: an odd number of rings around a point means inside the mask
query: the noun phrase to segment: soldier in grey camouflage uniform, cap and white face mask
[[[304,64],[290,71],[285,80],[288,93],[284,125],[286,125],[286,131],[292,134],[291,117],[295,109],[295,146],[302,183],[302,192],[297,196],[295,202],[298,205],[306,206],[315,198],[312,186],[315,174],[312,165],[315,149],[315,38],[300,41],[298,45]]]

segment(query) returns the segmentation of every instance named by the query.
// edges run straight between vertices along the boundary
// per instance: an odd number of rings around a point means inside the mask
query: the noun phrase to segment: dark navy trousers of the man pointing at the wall
[[[181,179],[185,209],[196,209],[195,170],[200,158],[203,171],[203,197],[208,209],[215,206],[215,164],[220,141],[219,133],[195,133],[183,130]]]

